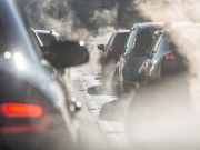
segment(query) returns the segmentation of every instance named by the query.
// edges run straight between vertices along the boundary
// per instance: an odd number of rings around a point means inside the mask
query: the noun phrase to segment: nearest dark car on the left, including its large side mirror
[[[62,69],[87,62],[89,53],[63,41],[43,48],[49,54],[42,56],[18,4],[0,1],[0,149],[79,149],[76,106],[43,60]]]

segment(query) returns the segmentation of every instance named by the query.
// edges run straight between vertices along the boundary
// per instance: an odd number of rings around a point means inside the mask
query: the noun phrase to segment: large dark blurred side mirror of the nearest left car
[[[89,60],[87,48],[74,41],[52,42],[41,49],[44,58],[57,69],[82,64]]]

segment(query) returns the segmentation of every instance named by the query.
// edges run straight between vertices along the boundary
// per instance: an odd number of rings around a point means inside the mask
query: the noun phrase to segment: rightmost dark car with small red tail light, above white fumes
[[[187,70],[187,60],[166,31],[162,31],[150,51],[149,58],[139,69],[140,80],[144,84],[166,76]]]

